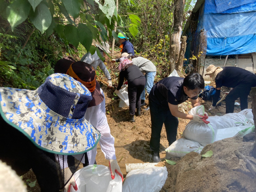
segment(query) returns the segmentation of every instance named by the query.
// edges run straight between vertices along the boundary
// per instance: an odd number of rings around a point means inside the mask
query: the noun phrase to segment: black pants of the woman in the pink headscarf
[[[129,114],[135,115],[135,109],[140,108],[140,95],[146,84],[145,77],[128,83]]]

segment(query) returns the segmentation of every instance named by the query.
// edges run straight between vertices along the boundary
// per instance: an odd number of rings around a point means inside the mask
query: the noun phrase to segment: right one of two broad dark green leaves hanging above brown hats
[[[87,25],[79,23],[78,24],[78,33],[79,33],[79,41],[82,45],[84,45],[87,52],[89,52],[91,48],[91,44],[93,42],[93,35],[91,30]]]

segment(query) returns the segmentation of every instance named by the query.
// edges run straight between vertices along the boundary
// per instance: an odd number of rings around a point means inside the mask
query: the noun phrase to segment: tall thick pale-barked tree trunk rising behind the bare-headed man
[[[170,47],[172,52],[170,52],[170,68],[169,72],[175,69],[175,63],[179,59],[179,52],[181,50],[181,31],[182,31],[182,21],[184,12],[185,0],[175,0],[174,1],[174,23],[173,23],[173,33],[170,37]],[[170,31],[170,33],[172,32]],[[173,46],[174,45],[174,46]],[[174,65],[171,66],[171,65]]]

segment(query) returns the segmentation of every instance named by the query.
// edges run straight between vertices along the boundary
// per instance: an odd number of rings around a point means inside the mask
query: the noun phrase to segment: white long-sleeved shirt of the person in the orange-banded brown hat
[[[103,94],[102,89],[100,92]],[[87,108],[84,118],[100,131],[100,148],[106,159],[116,159],[116,150],[114,147],[115,139],[110,134],[109,124],[107,123],[105,96],[103,101],[96,106]],[[97,154],[97,147],[87,152],[89,164],[94,164]],[[83,159],[84,160],[84,159]],[[84,162],[84,161],[83,161]]]

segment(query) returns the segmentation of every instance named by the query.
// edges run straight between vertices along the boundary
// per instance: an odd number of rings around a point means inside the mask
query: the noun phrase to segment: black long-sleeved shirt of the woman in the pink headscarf
[[[119,90],[121,88],[121,86],[123,85],[124,77],[125,77],[125,79],[127,79],[128,84],[135,79],[145,78],[145,76],[140,71],[140,69],[137,65],[129,66],[126,70],[124,70],[124,71],[121,70],[117,90]]]

